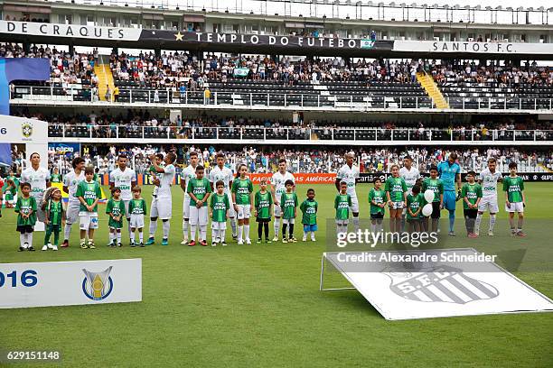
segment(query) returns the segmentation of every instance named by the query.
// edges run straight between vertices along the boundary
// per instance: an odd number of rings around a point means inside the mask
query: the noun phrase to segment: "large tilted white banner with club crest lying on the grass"
[[[410,250],[388,253],[405,255],[423,252]],[[477,253],[468,248],[439,252],[450,257]],[[355,255],[356,261],[351,262],[360,262],[361,265],[361,262],[370,262],[372,259],[368,254],[379,259],[382,253],[387,252],[347,254],[350,257]],[[352,270],[353,265],[343,262],[344,254],[323,253],[323,258],[331,262],[386,319],[553,311],[551,299],[493,262],[483,262],[484,269],[479,272],[463,271],[462,263],[459,267],[451,267],[446,262],[426,262],[424,269],[413,272],[393,271],[394,267],[381,271],[346,271]],[[405,264],[399,263],[402,266]],[[325,290],[323,284],[321,289]]]

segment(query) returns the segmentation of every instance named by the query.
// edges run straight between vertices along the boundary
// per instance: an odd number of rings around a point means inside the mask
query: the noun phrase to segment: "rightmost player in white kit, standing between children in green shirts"
[[[478,204],[478,214],[474,222],[474,234],[479,235],[480,224],[482,223],[483,213],[490,211],[490,226],[488,227],[488,235],[493,236],[493,226],[495,225],[496,214],[499,212],[497,204],[497,183],[502,181],[501,172],[496,170],[497,161],[494,158],[488,160],[488,167],[484,169],[478,176],[478,181],[482,186],[482,199]]]

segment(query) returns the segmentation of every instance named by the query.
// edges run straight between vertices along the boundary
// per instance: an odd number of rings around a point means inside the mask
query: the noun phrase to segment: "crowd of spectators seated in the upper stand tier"
[[[92,53],[74,53],[33,45],[28,53],[16,43],[0,44],[0,57],[49,58],[52,60],[52,78],[61,83],[78,80],[98,84],[94,65],[98,50]],[[232,78],[273,80],[285,85],[307,81],[360,81],[415,83],[417,71],[426,69],[440,85],[445,83],[496,84],[499,86],[553,85],[553,70],[539,67],[536,62],[524,67],[505,64],[476,64],[474,61],[440,63],[436,60],[345,60],[342,58],[301,59],[283,56],[273,60],[267,56],[208,55],[199,60],[185,51],[112,54],[109,66],[114,78],[132,81],[142,87],[176,87],[181,92],[202,90],[210,81],[226,82]],[[247,72],[236,75],[235,69]]]

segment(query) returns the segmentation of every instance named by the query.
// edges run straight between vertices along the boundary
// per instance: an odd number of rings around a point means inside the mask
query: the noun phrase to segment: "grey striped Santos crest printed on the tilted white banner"
[[[499,295],[499,291],[492,285],[445,265],[413,273],[383,273],[390,278],[389,289],[409,300],[466,304],[475,300],[493,299]]]

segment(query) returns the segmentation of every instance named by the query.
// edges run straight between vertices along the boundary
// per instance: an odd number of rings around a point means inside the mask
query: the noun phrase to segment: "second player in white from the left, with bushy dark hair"
[[[79,225],[80,201],[77,197],[75,197],[75,193],[77,193],[77,187],[79,186],[80,181],[85,179],[85,161],[82,157],[75,157],[73,161],[71,161],[71,166],[73,167],[73,170],[63,177],[63,191],[69,194],[69,199],[65,214],[63,243],[61,244],[62,248],[67,248],[69,246],[71,225]]]

